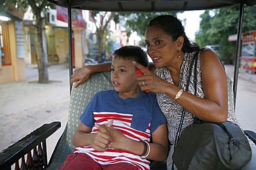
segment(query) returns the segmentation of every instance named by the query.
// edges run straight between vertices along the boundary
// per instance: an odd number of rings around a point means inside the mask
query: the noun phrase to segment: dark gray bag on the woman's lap
[[[174,155],[178,169],[241,169],[252,157],[235,123],[193,123],[181,133]]]

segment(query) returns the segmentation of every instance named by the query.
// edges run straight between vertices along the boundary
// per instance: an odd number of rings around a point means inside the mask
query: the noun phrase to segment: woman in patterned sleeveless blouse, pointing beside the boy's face
[[[138,76],[141,90],[149,89],[156,93],[158,105],[167,119],[170,153],[167,167],[171,169],[172,153],[179,129],[183,108],[186,109],[182,129],[192,124],[193,116],[205,121],[222,123],[228,118],[228,89],[226,72],[217,54],[212,50],[203,50],[199,54],[197,70],[196,96],[194,85],[185,92],[190,63],[200,47],[191,43],[185,35],[181,21],[170,15],[158,16],[149,22],[145,31],[147,53],[154,65],[150,71],[134,63],[144,76]],[[110,70],[110,64],[94,65],[74,72],[71,83],[75,87],[86,81],[93,72]],[[192,83],[192,81],[191,81]],[[235,119],[233,119],[235,120]]]

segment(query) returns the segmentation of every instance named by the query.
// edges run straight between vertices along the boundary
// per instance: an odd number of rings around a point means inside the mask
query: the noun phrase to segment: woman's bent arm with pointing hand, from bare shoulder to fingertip
[[[226,72],[219,57],[212,50],[203,50],[200,54],[200,62],[205,98],[199,98],[184,91],[176,102],[201,120],[224,122],[228,117]],[[180,88],[176,85],[152,74],[138,63],[135,65],[144,72],[144,76],[137,78],[141,90],[149,89],[151,92],[165,93],[171,98],[179,92]]]

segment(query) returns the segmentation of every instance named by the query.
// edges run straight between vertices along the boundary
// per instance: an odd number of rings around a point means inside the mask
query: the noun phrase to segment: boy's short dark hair
[[[113,52],[113,57],[124,60],[136,61],[137,63],[140,63],[145,67],[149,66],[149,59],[147,59],[147,53],[138,46],[127,45],[124,47],[120,47],[118,50],[115,50],[115,52]]]

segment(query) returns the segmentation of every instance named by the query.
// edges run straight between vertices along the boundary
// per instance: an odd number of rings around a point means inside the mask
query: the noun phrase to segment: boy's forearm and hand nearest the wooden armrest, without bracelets
[[[112,141],[109,131],[103,130],[91,134],[91,129],[91,127],[80,123],[72,138],[73,145],[75,145],[75,147],[91,145],[91,147],[97,151],[105,151]]]

